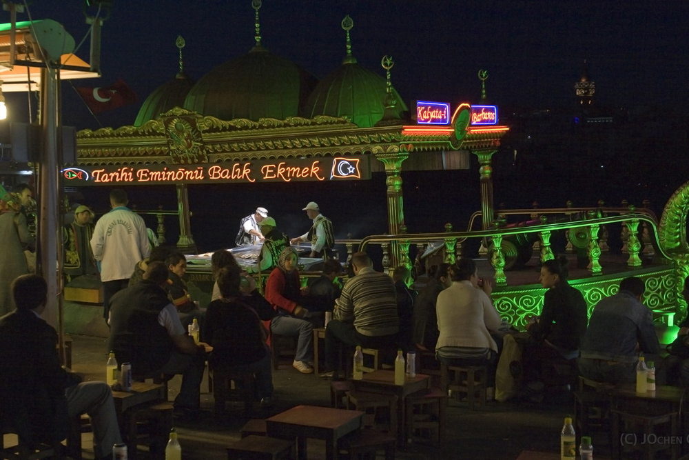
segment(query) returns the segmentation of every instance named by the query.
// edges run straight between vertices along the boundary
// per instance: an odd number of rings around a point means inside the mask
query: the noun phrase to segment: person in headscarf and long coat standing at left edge
[[[19,201],[0,186],[0,317],[14,310],[12,281],[29,272],[22,249],[28,234]]]

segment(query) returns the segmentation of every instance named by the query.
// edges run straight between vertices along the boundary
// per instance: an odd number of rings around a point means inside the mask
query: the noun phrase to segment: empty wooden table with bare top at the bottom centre
[[[306,439],[325,439],[325,455],[329,460],[338,459],[338,439],[359,430],[364,412],[296,406],[270,417],[265,421],[266,434],[280,439],[297,439],[297,455],[306,459]]]

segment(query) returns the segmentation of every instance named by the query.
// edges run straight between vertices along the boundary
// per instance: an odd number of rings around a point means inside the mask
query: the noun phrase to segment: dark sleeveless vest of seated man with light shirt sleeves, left
[[[158,315],[170,300],[155,283],[143,280],[117,292],[110,301],[110,337],[107,345],[117,363],[132,363],[134,375],[162,368],[174,350],[174,343]]]

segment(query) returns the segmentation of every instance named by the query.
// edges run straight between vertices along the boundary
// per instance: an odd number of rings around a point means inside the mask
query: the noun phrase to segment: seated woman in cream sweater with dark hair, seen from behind
[[[479,286],[476,263],[460,259],[451,269],[452,285],[438,294],[436,309],[440,335],[435,354],[451,366],[490,365],[489,386],[495,377],[497,345],[491,330],[500,329],[501,319],[490,294],[488,280]]]

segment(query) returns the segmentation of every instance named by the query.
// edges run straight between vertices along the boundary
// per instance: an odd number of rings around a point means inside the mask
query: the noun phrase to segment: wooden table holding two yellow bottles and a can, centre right
[[[397,400],[397,427],[398,427],[398,443],[404,446],[404,421],[407,420],[404,410],[407,407],[405,398],[412,393],[426,388],[431,388],[431,376],[425,374],[416,374],[416,377],[405,377],[404,385],[395,385],[395,371],[394,370],[374,370],[364,374],[361,380],[349,379],[355,391],[364,391],[369,393],[390,394],[398,397]]]

